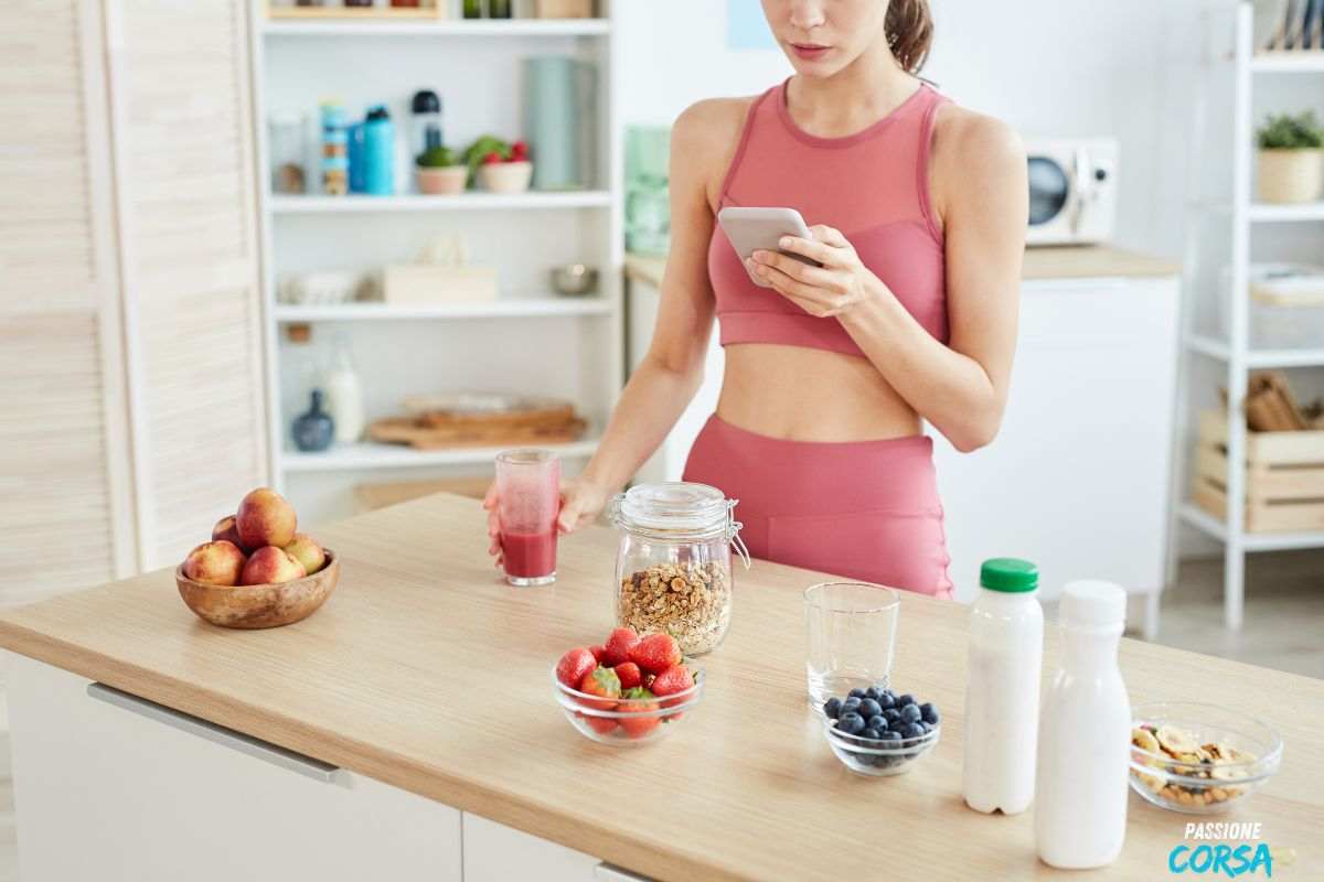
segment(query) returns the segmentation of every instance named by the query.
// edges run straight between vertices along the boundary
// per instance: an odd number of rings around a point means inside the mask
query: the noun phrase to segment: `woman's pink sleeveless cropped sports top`
[[[789,81],[788,81],[789,82]],[[785,206],[841,230],[925,331],[947,342],[943,233],[928,201],[933,116],[948,99],[922,83],[900,107],[846,138],[816,138],[790,118],[786,83],[749,108],[720,206]],[[835,319],[806,313],[749,280],[720,226],[708,242],[722,345],[773,342],[862,356]]]

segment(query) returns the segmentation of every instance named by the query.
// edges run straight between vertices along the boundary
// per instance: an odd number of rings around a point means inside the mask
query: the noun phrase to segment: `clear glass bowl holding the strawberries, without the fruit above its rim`
[[[666,737],[703,698],[703,668],[690,659],[683,664],[694,673],[694,685],[659,698],[589,696],[557,680],[556,665],[552,665],[552,688],[565,719],[581,735],[600,744],[637,747]]]

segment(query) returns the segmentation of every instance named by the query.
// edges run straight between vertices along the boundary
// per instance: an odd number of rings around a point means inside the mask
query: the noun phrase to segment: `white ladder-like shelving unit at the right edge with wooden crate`
[[[1256,54],[1254,50],[1254,7],[1242,0],[1235,9],[1233,63],[1233,194],[1230,202],[1210,204],[1197,210],[1227,214],[1231,250],[1231,284],[1219,296],[1230,298],[1227,304],[1229,336],[1226,340],[1200,333],[1194,327],[1194,309],[1185,309],[1182,364],[1184,402],[1182,418],[1189,417],[1192,365],[1198,356],[1211,358],[1225,370],[1229,394],[1227,407],[1227,518],[1211,517],[1200,506],[1186,502],[1177,508],[1177,516],[1201,533],[1223,543],[1223,619],[1229,629],[1241,629],[1245,598],[1246,554],[1290,549],[1324,547],[1324,532],[1304,533],[1247,533],[1246,514],[1246,419],[1243,403],[1250,372],[1266,368],[1324,368],[1324,346],[1305,349],[1255,349],[1250,345],[1249,298],[1253,229],[1268,223],[1324,222],[1324,202],[1305,205],[1266,205],[1253,201],[1254,149],[1254,97],[1255,83],[1262,75],[1313,74],[1316,87],[1324,87],[1324,50],[1276,52]],[[1197,225],[1188,245],[1188,290],[1194,287],[1200,258]],[[1185,452],[1185,451],[1184,451]],[[1182,461],[1182,458],[1178,458]]]

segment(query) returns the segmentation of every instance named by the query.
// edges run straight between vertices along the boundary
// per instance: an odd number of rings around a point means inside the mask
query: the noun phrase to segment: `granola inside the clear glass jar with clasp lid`
[[[687,656],[708,652],[731,624],[731,570],[718,562],[657,563],[621,578],[617,624],[669,633]]]

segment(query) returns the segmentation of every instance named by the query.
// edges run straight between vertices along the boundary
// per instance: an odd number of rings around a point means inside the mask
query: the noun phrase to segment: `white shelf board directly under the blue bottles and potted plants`
[[[606,190],[564,193],[461,193],[458,196],[271,196],[273,214],[336,214],[384,212],[498,212],[508,209],[604,208]]]

